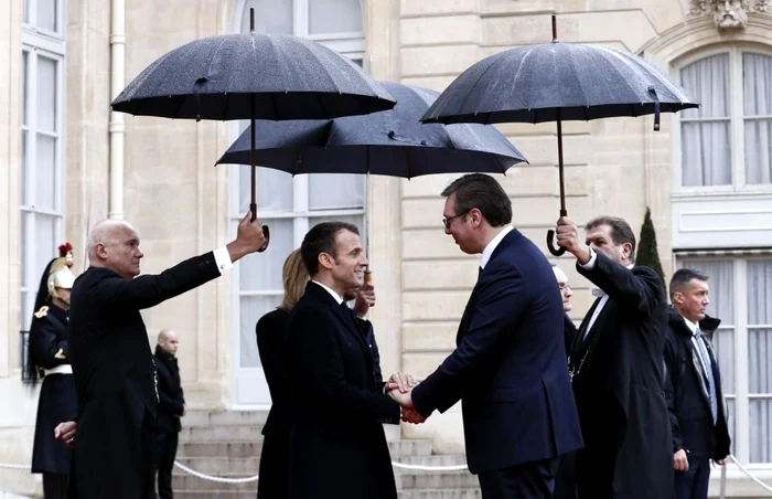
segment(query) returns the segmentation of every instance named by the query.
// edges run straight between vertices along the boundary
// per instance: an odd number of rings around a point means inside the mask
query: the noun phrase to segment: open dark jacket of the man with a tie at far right
[[[699,322],[699,328],[704,335],[709,335],[719,323],[720,320],[706,317]],[[723,459],[729,455],[730,438],[716,353],[710,342],[706,341],[718,402],[718,417],[714,424],[707,376],[691,342],[691,330],[673,308],[668,310],[668,326],[665,396],[673,429],[673,452],[684,448],[689,453],[689,458]]]

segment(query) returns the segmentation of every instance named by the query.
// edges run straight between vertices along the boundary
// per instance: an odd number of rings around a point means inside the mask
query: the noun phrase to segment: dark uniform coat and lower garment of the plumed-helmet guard
[[[69,364],[67,311],[49,305],[35,312],[30,328],[30,361],[43,369]],[[54,428],[77,414],[75,380],[57,373],[43,378],[37,402],[32,473],[69,474],[69,449],[54,438]]]

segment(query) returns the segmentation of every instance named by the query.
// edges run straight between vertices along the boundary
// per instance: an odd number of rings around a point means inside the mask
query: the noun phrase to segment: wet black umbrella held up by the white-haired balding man
[[[116,97],[112,109],[254,123],[330,119],[394,107],[392,96],[349,59],[310,40],[255,33],[254,9],[249,17],[250,33],[196,40],[153,62]],[[255,166],[254,158],[250,163]],[[254,168],[250,210],[255,216]]]

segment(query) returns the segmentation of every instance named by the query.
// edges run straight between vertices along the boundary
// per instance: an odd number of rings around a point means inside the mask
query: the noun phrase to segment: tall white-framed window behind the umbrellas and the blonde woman
[[[362,64],[365,38],[360,0],[240,0],[236,4],[239,17],[236,26],[242,32],[249,30],[250,8],[255,9],[256,31],[309,38]],[[240,123],[234,132],[243,131],[247,125]],[[235,226],[249,208],[250,172],[247,166],[228,168]],[[360,227],[363,241],[366,234],[364,176],[292,177],[258,168],[256,195],[258,214],[270,225],[271,243],[265,253],[250,255],[238,264],[234,399],[236,405],[244,406],[270,402],[262,381],[255,323],[281,301],[281,268],[287,255],[300,246],[308,230],[319,222],[351,222]]]

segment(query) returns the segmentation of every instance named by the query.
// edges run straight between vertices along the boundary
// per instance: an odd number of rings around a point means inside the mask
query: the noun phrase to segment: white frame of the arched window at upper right
[[[744,142],[744,106],[743,106],[743,70],[742,54],[754,53],[772,57],[772,46],[764,46],[753,43],[733,43],[731,45],[717,45],[700,50],[694,54],[680,59],[673,65],[671,77],[680,85],[680,71],[700,60],[714,55],[729,55],[729,140],[731,157],[731,179],[729,185],[683,185],[683,156],[682,156],[682,117],[678,113],[673,116],[673,192],[672,198],[704,198],[715,195],[737,195],[737,194],[770,194],[772,183],[748,184],[746,183],[746,142]],[[739,89],[739,92],[737,92]],[[736,147],[741,145],[741,147]]]

